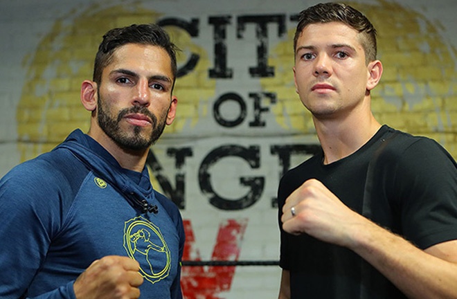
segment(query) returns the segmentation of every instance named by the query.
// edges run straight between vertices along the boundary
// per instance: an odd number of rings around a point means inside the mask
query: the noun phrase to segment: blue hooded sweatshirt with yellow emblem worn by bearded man
[[[141,298],[182,298],[177,206],[79,129],[1,179],[0,219],[0,298],[75,298],[106,255],[139,262]]]

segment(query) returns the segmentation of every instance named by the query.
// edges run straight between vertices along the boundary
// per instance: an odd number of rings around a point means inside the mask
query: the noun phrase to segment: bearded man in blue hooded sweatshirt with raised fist
[[[81,87],[89,132],[1,179],[1,298],[182,298],[181,215],[145,167],[176,113],[176,51],[156,25],[109,30]]]

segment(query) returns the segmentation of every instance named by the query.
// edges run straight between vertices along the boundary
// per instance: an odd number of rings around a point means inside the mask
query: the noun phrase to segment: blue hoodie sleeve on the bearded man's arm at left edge
[[[0,298],[27,296],[62,224],[62,182],[40,166],[22,163],[0,181]],[[73,282],[39,298],[75,298]]]

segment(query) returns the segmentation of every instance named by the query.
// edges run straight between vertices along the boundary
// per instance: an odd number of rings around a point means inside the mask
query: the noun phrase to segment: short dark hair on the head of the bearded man
[[[127,27],[113,28],[103,35],[93,64],[94,82],[100,84],[103,69],[111,63],[114,51],[125,44],[144,44],[163,48],[170,55],[173,79],[176,79],[176,53],[179,48],[171,42],[168,33],[156,24],[132,24]]]

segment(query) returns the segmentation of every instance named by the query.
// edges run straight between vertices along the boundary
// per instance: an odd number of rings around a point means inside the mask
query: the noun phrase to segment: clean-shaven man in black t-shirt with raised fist
[[[457,298],[457,165],[374,118],[375,28],[318,4],[301,12],[294,52],[322,152],[278,188],[278,298]]]

